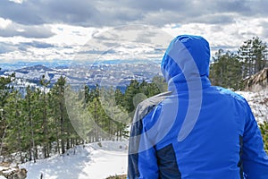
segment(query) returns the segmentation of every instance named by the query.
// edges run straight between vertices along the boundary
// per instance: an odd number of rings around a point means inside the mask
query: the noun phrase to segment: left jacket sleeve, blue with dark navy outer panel
[[[146,116],[145,118],[150,117]],[[154,146],[150,145],[143,120],[133,123],[130,131],[128,178],[157,179],[158,166]],[[142,142],[141,142],[142,141]],[[142,144],[141,144],[142,143]],[[148,148],[146,147],[148,146]]]

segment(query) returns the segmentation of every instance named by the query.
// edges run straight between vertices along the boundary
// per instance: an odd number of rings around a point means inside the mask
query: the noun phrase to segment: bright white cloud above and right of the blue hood
[[[211,54],[214,55],[220,48],[236,52],[245,40],[255,36],[267,42],[268,37],[263,35],[264,22],[268,22],[267,18],[243,18],[238,16],[230,24],[188,23],[176,28],[174,28],[174,24],[170,24],[166,25],[163,30],[171,33],[172,36],[180,34],[203,36],[210,43]]]

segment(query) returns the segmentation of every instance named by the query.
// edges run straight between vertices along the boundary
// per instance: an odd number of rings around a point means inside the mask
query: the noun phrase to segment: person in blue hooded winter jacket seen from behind
[[[208,79],[205,38],[174,38],[161,64],[170,92],[137,107],[131,178],[267,179],[268,157],[245,98]]]

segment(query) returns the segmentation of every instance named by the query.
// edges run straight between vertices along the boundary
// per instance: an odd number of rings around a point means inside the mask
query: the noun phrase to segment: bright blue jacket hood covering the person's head
[[[174,38],[163,55],[161,64],[169,90],[172,84],[207,79],[209,61],[210,48],[205,38],[192,35],[180,35]]]

